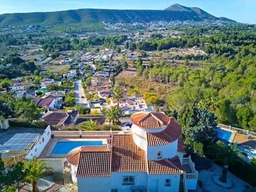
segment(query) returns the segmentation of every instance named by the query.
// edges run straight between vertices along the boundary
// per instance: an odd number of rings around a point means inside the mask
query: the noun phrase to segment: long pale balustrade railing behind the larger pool
[[[110,137],[116,134],[129,134],[131,131],[52,131],[54,137]]]

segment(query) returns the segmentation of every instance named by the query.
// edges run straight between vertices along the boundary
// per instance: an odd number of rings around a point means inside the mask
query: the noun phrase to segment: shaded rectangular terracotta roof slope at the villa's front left
[[[76,177],[110,177],[111,151],[81,152]]]

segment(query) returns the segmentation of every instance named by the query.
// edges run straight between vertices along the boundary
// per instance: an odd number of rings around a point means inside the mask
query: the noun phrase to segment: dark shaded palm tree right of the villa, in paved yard
[[[218,141],[217,145],[214,144],[207,146],[207,149],[208,150],[206,154],[213,155],[215,157],[213,161],[219,161],[223,163],[222,173],[219,180],[226,183],[229,164],[234,162],[243,163],[243,152],[237,148],[237,142],[234,144],[229,143],[229,145],[226,146],[222,141]]]

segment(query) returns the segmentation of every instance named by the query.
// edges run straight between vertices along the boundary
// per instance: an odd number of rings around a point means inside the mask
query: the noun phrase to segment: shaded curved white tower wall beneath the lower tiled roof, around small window
[[[147,159],[154,161],[157,158],[157,152],[162,151],[162,158],[172,158],[177,155],[178,140],[169,143],[168,145],[147,146]]]

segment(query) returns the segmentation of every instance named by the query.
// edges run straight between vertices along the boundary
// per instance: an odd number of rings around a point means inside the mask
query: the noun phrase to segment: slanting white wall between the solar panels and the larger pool
[[[27,159],[33,159],[34,157],[38,157],[42,151],[44,150],[45,146],[51,139],[51,127],[50,125],[47,126],[47,128],[44,130],[44,133],[41,135],[41,138],[36,143],[36,145],[29,150],[28,154],[25,158]]]

